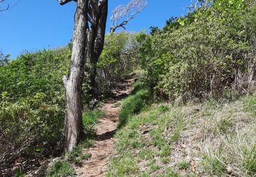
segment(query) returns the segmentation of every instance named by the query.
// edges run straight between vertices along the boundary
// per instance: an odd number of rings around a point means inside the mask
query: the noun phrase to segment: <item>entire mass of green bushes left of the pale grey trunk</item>
[[[0,170],[16,161],[24,171],[38,162],[23,163],[23,157],[56,152],[65,110],[61,78],[69,59],[67,47],[23,54],[0,67]]]

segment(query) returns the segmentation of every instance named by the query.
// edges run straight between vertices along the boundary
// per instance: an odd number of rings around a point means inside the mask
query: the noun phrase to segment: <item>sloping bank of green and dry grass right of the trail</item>
[[[255,175],[255,95],[186,106],[148,106],[139,95],[124,100],[108,176]]]

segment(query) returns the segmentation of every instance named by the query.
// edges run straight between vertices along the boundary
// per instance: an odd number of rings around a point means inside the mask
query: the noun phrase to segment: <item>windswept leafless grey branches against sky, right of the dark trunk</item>
[[[119,27],[126,29],[124,26],[135,18],[137,14],[141,13],[146,5],[147,0],[132,0],[127,5],[118,5],[115,10],[113,10],[111,16],[111,32],[115,32]]]

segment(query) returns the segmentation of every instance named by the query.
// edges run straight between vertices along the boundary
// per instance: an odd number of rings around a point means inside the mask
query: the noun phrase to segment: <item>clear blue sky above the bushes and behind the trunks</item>
[[[70,42],[76,8],[74,2],[61,6],[56,0],[6,1],[14,7],[0,12],[0,50],[4,54],[11,54],[11,58],[15,58],[24,50],[33,52],[44,48],[57,48]],[[129,1],[109,0],[107,33],[112,10]],[[126,31],[148,30],[152,26],[163,27],[171,16],[186,14],[184,7],[190,4],[190,0],[147,1],[147,7],[137,18],[130,21]]]

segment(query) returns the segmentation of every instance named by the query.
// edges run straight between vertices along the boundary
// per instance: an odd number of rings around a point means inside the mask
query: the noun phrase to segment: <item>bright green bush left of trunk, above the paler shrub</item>
[[[69,48],[23,54],[0,67],[0,92],[12,101],[44,93],[47,100],[61,102],[59,95],[64,91],[61,77],[68,73],[69,59]]]

